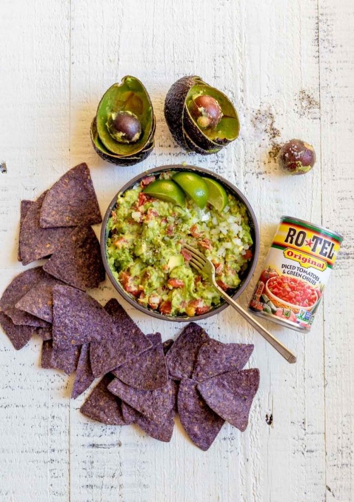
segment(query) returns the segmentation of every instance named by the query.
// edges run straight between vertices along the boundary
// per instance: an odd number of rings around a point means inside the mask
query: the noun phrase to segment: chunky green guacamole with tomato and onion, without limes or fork
[[[246,206],[228,194],[221,212],[209,204],[200,209],[190,198],[180,207],[142,192],[154,180],[149,176],[118,196],[107,223],[109,267],[141,305],[170,316],[200,315],[221,298],[207,277],[189,265],[183,244],[204,252],[215,266],[218,285],[233,294],[252,257]]]

